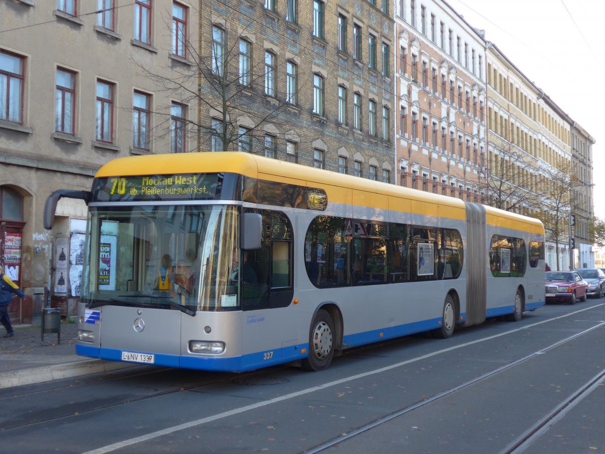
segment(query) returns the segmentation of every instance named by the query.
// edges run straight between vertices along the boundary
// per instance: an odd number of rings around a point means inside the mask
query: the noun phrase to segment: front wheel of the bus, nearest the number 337
[[[318,371],[330,366],[334,357],[334,326],[334,320],[327,311],[317,311],[309,332],[309,356],[302,360],[303,370]]]

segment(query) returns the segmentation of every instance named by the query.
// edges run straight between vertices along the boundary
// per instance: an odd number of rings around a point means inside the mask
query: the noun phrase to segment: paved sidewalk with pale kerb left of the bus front
[[[57,343],[57,334],[44,334],[42,342],[40,326],[14,325],[13,328],[15,335],[3,338],[6,332],[0,327],[0,389],[136,365],[77,356],[76,323],[61,323],[60,343]]]

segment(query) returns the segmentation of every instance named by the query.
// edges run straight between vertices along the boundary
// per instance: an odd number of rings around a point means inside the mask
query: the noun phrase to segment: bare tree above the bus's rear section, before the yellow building
[[[528,214],[540,203],[535,161],[511,142],[496,143],[497,153],[490,155],[480,173],[479,190],[487,204],[506,211]]]

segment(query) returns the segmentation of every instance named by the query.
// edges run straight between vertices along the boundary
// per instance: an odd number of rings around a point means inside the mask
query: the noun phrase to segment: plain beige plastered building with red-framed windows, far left
[[[75,315],[87,209],[60,200],[46,231],[51,192],[90,190],[116,157],[197,148],[183,132],[197,107],[143,74],[190,70],[175,36],[197,39],[193,12],[171,0],[0,2],[0,255],[27,295],[13,323],[47,303]]]

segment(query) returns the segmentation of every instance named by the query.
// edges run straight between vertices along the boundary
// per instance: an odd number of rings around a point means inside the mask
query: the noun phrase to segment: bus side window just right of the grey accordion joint
[[[527,263],[525,240],[493,235],[489,248],[489,268],[494,277],[523,277]]]

